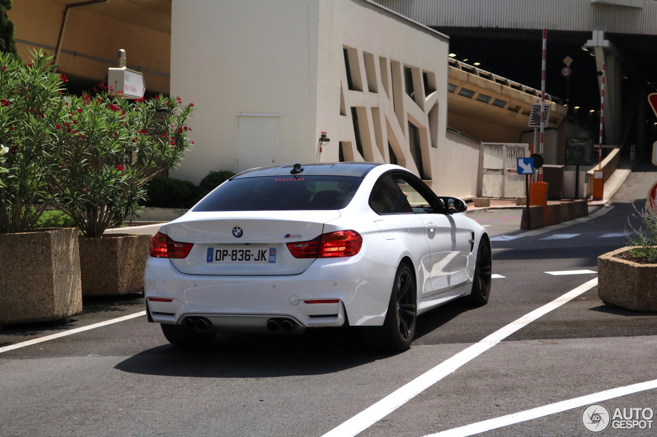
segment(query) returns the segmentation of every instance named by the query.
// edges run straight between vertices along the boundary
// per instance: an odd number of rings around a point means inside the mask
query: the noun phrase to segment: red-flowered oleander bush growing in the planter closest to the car
[[[104,85],[93,96],[72,97],[56,128],[56,203],[89,238],[99,238],[139,212],[145,184],[177,165],[191,144],[192,105],[157,96],[134,101]]]

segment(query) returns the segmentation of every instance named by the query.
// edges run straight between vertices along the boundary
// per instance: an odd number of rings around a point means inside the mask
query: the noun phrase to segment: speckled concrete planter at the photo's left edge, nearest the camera
[[[0,235],[0,325],[66,320],[82,310],[78,230]]]

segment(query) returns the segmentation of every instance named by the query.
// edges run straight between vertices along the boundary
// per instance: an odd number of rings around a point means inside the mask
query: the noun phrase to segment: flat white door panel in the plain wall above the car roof
[[[238,115],[237,173],[275,164],[278,150],[279,117],[276,115]]]

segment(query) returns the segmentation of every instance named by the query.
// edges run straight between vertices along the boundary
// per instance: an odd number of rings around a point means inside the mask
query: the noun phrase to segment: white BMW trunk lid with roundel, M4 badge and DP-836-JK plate
[[[313,239],[338,217],[334,210],[190,212],[166,224],[171,239],[194,243],[171,263],[184,274],[300,274],[315,259],[294,258],[286,243]]]

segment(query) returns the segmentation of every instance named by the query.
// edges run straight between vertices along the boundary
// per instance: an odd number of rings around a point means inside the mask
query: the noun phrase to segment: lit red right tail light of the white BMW
[[[287,243],[295,258],[353,257],[363,245],[363,237],[353,230],[329,232],[298,243]]]

